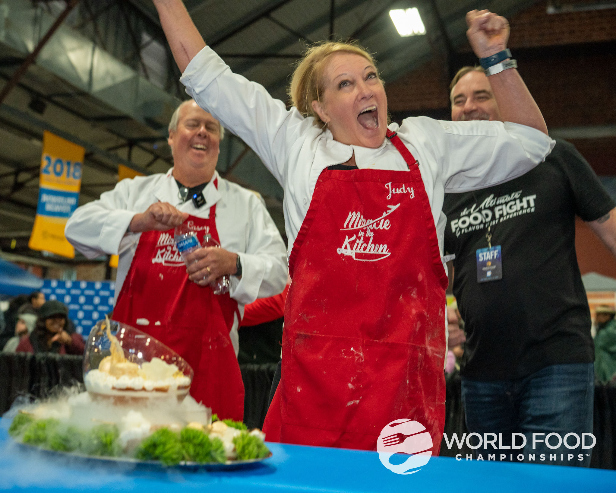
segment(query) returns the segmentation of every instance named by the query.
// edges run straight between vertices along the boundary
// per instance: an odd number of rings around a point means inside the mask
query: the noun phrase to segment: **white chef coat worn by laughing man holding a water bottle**
[[[206,219],[209,218],[209,208],[216,204],[216,229],[221,247],[240,256],[241,279],[231,276],[229,294],[237,301],[242,315],[245,304],[282,293],[288,275],[285,243],[263,200],[214,172],[203,189],[205,205],[195,208],[192,200],[181,203],[172,171],[124,179],[115,189],[101,194],[99,200],[78,207],[68,219],[67,240],[87,258],[103,253],[120,255],[115,300],[141,237],[140,233],[127,234],[128,225],[135,214],[159,201],[168,202],[191,216]],[[214,186],[216,178],[218,189]],[[233,324],[231,334],[236,354],[239,347],[237,325],[238,320]]]

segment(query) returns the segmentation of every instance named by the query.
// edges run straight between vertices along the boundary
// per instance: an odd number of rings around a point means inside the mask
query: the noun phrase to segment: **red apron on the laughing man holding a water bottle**
[[[216,204],[209,219],[188,216],[198,237],[216,230]],[[113,319],[154,336],[182,356],[195,372],[190,394],[221,418],[241,421],[244,384],[229,332],[233,314],[240,314],[229,293],[214,295],[209,286],[188,280],[184,261],[176,250],[174,230],[141,234],[126,275]],[[148,325],[137,324],[147,319]],[[160,324],[159,324],[160,322]]]

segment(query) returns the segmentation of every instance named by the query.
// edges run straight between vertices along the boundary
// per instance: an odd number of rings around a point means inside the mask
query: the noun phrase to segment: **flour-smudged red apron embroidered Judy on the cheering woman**
[[[329,170],[293,245],[282,378],[265,418],[270,441],[376,450],[398,418],[445,424],[445,288],[418,163],[410,172]]]

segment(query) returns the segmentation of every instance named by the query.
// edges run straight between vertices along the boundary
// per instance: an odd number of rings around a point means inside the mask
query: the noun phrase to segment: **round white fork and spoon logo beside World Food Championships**
[[[394,420],[381,430],[376,441],[376,451],[381,463],[396,474],[413,474],[421,470],[432,456],[432,437],[426,427],[410,419]],[[401,464],[392,464],[394,454],[408,454]]]

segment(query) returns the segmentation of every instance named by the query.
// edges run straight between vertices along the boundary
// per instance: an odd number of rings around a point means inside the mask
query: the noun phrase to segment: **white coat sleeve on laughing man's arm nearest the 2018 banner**
[[[137,211],[127,210],[133,179],[124,179],[99,200],[78,207],[68,219],[64,233],[68,242],[87,258],[118,255],[123,250],[124,235]],[[134,235],[128,235],[132,237]],[[123,242],[124,240],[124,242]]]

